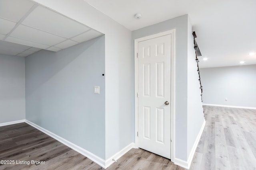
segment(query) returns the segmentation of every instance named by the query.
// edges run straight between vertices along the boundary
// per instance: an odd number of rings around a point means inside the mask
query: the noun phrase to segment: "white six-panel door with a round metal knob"
[[[138,147],[169,159],[171,36],[138,43]]]

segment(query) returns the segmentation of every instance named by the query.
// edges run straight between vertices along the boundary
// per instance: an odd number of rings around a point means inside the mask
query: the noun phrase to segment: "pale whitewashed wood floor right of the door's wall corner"
[[[256,109],[204,106],[191,170],[256,170]]]

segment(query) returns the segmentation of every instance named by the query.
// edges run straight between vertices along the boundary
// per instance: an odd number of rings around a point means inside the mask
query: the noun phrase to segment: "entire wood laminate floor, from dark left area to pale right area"
[[[256,110],[204,106],[206,126],[191,170],[256,170]],[[0,160],[45,161],[44,164],[0,164],[0,170],[98,170],[92,160],[19,123],[0,127]],[[185,170],[142,149],[131,149],[107,170]]]

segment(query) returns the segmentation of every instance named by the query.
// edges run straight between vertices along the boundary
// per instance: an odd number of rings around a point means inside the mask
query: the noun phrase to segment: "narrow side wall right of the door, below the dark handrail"
[[[192,25],[188,20],[188,156],[204,123]],[[200,64],[200,63],[199,63]]]

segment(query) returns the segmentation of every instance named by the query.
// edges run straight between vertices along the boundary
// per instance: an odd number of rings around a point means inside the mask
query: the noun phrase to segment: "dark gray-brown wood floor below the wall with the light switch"
[[[1,135],[4,135],[4,139]],[[0,137],[1,160],[46,162],[45,164],[0,164],[1,170],[74,170],[75,167],[77,169],[102,169],[92,160],[26,123],[0,127]],[[6,137],[10,140],[6,140]],[[73,157],[69,157],[68,152],[71,152]]]

